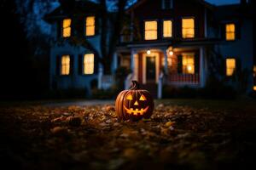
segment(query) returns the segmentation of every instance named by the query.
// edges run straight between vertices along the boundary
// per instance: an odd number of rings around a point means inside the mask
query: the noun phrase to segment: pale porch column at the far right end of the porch
[[[206,55],[205,48],[200,48],[200,86],[201,88],[206,85]]]

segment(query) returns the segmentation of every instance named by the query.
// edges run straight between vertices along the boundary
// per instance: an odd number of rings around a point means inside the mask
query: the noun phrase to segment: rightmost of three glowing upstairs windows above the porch
[[[183,38],[195,37],[195,20],[183,19]]]

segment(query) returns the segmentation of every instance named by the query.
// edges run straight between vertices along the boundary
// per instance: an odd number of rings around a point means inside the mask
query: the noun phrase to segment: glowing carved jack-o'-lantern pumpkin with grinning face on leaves
[[[149,118],[154,110],[154,100],[147,90],[139,88],[137,81],[132,87],[119,93],[115,100],[115,112],[123,120]]]

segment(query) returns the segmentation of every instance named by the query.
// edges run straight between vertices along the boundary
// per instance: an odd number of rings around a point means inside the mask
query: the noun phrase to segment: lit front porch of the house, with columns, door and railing
[[[155,91],[160,91],[164,84],[190,88],[205,85],[204,47],[131,48],[125,53],[119,51],[118,58],[119,66],[132,71],[126,78],[125,88],[130,87],[131,80],[137,80],[146,87],[157,85]],[[159,98],[160,93],[157,93]]]

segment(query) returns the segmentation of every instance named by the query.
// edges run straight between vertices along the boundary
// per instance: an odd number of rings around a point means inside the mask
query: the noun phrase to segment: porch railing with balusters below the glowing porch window
[[[168,82],[174,84],[199,84],[199,74],[170,74]]]

